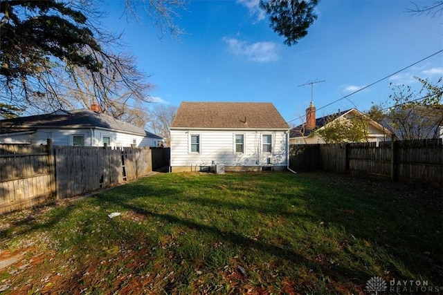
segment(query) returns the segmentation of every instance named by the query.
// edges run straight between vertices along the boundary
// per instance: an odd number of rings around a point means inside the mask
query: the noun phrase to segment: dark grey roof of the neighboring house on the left
[[[35,129],[104,128],[145,136],[146,131],[104,113],[90,110],[55,111],[43,115],[0,120],[0,133],[33,131]]]

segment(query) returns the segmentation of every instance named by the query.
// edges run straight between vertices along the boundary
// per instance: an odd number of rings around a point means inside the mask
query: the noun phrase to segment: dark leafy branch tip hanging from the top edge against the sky
[[[296,45],[307,35],[317,19],[314,9],[320,0],[260,0],[260,8],[269,15],[271,28],[286,38],[284,44]]]

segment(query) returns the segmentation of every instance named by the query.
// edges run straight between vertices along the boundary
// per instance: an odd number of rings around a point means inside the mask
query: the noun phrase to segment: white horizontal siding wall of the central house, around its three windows
[[[235,152],[235,135],[244,135],[244,153]],[[262,135],[272,135],[272,152],[262,151]],[[287,131],[176,130],[171,129],[172,171],[195,171],[213,162],[226,170],[260,169],[262,166],[287,166]],[[190,151],[190,135],[200,136],[200,152]],[[268,164],[272,158],[273,164]],[[175,169],[174,169],[175,168]],[[246,168],[248,169],[248,168]],[[198,171],[198,169],[197,169]]]

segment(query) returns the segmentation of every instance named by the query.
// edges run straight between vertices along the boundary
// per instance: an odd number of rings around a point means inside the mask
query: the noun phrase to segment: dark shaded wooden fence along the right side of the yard
[[[293,144],[290,168],[376,175],[443,187],[443,142],[404,140],[355,144]]]

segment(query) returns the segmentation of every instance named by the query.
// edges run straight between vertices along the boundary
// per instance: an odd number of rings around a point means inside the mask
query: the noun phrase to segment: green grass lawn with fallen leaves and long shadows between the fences
[[[0,293],[363,294],[374,276],[438,287],[442,198],[324,173],[157,174],[0,216],[0,260],[15,261]]]

